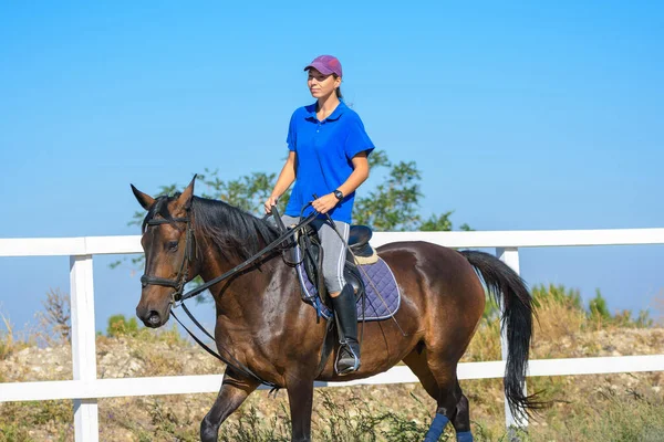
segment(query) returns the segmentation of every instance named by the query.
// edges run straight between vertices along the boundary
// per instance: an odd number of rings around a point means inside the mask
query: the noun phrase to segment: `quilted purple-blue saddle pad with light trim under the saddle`
[[[300,261],[300,250],[297,248],[295,256],[298,262]],[[303,295],[305,301],[312,306],[320,308],[321,316],[329,319],[333,313],[323,304],[318,295],[318,290],[304,271],[304,264],[300,263],[295,269],[301,286],[304,290]],[[357,269],[366,290],[364,313],[362,312],[363,299],[357,299],[357,320],[383,320],[394,316],[401,305],[401,292],[387,263],[378,257],[376,263],[359,265]]]

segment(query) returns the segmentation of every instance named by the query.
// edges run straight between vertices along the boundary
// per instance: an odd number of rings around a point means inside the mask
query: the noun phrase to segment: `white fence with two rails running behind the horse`
[[[372,244],[428,241],[450,248],[495,248],[497,256],[519,272],[519,248],[664,244],[664,229],[386,232]],[[97,379],[95,356],[93,255],[141,253],[139,236],[0,239],[0,256],[70,256],[73,380],[0,383],[0,402],[73,399],[76,442],[98,441],[97,399],[149,394],[217,392],[221,375]],[[136,288],[138,291],[138,287]],[[507,346],[502,340],[504,359]],[[531,360],[528,376],[566,376],[664,371],[664,355]],[[501,378],[505,361],[459,364],[459,379]],[[416,382],[407,367],[350,382],[318,387]],[[515,421],[506,406],[506,424]]]

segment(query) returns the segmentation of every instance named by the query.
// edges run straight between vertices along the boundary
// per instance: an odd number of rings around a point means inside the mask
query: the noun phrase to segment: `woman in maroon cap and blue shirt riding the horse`
[[[284,224],[295,224],[302,208],[328,214],[339,232],[319,217],[312,222],[323,253],[323,280],[332,299],[340,328],[341,349],[334,368],[347,375],[360,368],[357,311],[355,295],[343,277],[345,243],[349,239],[355,190],[369,178],[369,154],[374,146],[360,116],[341,99],[342,70],[339,60],[321,55],[304,67],[307,85],[317,102],[298,108],[290,120],[287,144],[289,156],[270,198],[264,203],[270,213],[279,197],[293,183],[283,215]],[[343,238],[341,240],[340,235]]]

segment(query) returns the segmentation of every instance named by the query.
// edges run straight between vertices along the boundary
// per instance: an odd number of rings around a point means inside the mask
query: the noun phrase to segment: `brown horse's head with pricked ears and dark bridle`
[[[195,180],[179,196],[157,199],[132,186],[138,203],[147,210],[141,239],[145,273],[136,306],[136,316],[147,327],[166,324],[172,304],[181,295],[185,283],[196,276],[191,269],[195,240],[190,210]]]

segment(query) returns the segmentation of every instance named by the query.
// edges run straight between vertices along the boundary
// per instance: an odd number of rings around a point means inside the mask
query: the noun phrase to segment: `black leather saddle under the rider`
[[[366,293],[364,281],[357,269],[355,257],[359,263],[366,264],[377,261],[377,255],[373,248],[369,244],[373,232],[366,225],[351,225],[349,234],[349,251],[343,270],[343,275],[346,283],[353,286],[355,297],[359,299]],[[323,282],[323,253],[318,232],[311,225],[307,225],[304,233],[297,239],[300,248],[301,260],[309,277],[309,281],[317,287],[318,293],[325,305],[330,305],[328,290]],[[304,293],[304,287],[302,287]]]

